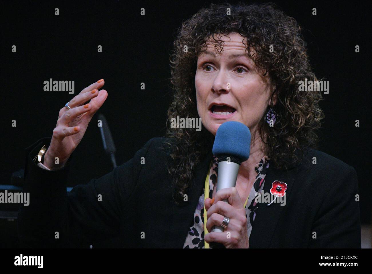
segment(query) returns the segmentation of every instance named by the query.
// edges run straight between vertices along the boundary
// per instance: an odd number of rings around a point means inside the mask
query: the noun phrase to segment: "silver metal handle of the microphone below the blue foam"
[[[221,161],[218,163],[218,175],[217,175],[217,191],[224,188],[234,188],[236,185],[236,179],[238,177],[240,165],[233,162]],[[227,199],[223,200],[227,202]],[[225,229],[222,226],[213,226],[212,232],[224,232]]]

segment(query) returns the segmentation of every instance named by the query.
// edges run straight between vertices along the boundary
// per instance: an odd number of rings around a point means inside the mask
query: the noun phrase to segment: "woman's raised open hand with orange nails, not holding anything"
[[[80,143],[94,113],[107,98],[108,94],[105,89],[99,91],[104,84],[105,81],[101,79],[87,86],[68,102],[70,109],[65,106],[61,108],[51,143],[44,156],[44,165],[49,169],[63,167]],[[84,105],[88,101],[89,103]]]

